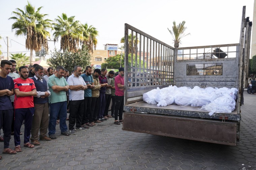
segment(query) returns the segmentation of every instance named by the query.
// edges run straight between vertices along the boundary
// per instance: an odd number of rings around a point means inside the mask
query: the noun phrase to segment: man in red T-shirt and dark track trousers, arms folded
[[[20,78],[14,79],[14,144],[15,151],[21,152],[21,139],[20,131],[23,120],[25,120],[24,126],[24,147],[34,148],[35,146],[29,143],[30,130],[32,126],[32,120],[34,115],[34,102],[33,97],[37,96],[36,87],[34,81],[28,78],[28,67],[21,66],[19,68],[21,74]]]

